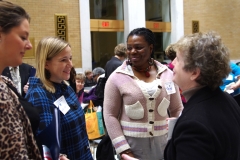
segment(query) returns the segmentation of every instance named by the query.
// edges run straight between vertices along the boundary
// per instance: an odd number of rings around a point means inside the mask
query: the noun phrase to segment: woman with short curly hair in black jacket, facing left
[[[230,72],[229,52],[214,32],[184,36],[176,44],[173,81],[187,103],[164,160],[240,159],[240,108],[219,86]]]

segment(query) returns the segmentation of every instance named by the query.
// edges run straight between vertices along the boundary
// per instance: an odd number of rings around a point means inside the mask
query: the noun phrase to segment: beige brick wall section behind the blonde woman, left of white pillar
[[[80,50],[79,0],[9,0],[22,6],[31,16],[30,37],[37,44],[45,36],[55,36],[54,14],[66,14],[68,18],[68,41],[72,47],[73,64],[82,66]],[[35,59],[24,59],[35,66]]]

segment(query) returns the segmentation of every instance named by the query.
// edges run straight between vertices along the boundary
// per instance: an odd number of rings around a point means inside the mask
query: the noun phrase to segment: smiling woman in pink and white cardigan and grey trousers
[[[183,109],[172,71],[151,58],[154,45],[149,29],[131,31],[128,59],[111,74],[104,93],[105,124],[116,152],[141,160],[163,159],[166,118]]]

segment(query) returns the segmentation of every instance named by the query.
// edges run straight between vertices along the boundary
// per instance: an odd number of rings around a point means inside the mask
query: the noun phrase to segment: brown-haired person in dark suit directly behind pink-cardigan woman
[[[107,79],[116,68],[122,65],[127,57],[126,51],[127,48],[124,43],[120,43],[114,48],[115,55],[105,65],[105,77]]]

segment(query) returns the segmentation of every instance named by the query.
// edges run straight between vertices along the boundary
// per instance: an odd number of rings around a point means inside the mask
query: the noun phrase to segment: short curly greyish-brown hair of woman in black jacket
[[[196,82],[215,89],[230,73],[229,51],[214,31],[184,36],[174,46],[184,54],[184,70],[200,69]]]

